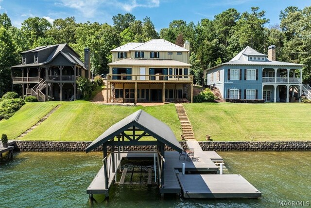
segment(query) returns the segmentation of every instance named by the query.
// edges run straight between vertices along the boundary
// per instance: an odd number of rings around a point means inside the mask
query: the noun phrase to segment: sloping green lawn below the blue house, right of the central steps
[[[307,103],[184,104],[197,140],[310,140],[311,105]]]

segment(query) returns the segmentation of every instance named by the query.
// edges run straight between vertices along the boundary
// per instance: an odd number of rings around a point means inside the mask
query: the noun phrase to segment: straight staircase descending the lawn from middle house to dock
[[[195,139],[192,126],[184,109],[184,106],[182,104],[175,104],[175,107],[185,139]]]

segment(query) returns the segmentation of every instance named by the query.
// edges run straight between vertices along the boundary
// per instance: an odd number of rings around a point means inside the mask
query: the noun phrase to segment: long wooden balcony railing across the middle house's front
[[[107,80],[124,80],[124,81],[189,81],[193,80],[193,75],[125,75],[125,74],[108,74]]]

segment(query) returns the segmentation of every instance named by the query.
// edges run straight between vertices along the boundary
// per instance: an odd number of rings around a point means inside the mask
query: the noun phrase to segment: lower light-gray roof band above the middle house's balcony
[[[191,64],[184,63],[181,61],[171,60],[171,59],[132,59],[125,58],[119,61],[115,61],[109,63],[108,66],[114,65],[136,65],[136,66],[182,66],[182,67],[190,67]]]

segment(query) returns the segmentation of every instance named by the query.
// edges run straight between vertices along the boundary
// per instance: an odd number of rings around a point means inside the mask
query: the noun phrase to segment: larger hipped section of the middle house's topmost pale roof
[[[175,45],[165,39],[151,39],[136,48],[133,51],[189,51],[183,47]]]

